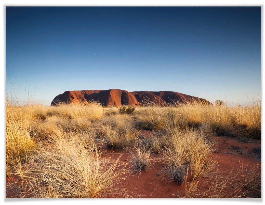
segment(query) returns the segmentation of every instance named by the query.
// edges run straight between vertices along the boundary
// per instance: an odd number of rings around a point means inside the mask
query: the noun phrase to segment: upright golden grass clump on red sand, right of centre
[[[161,173],[181,184],[185,170],[191,172],[193,180],[211,174],[217,162],[210,157],[214,143],[210,142],[198,130],[169,129],[162,139],[165,149],[163,161],[166,167]]]

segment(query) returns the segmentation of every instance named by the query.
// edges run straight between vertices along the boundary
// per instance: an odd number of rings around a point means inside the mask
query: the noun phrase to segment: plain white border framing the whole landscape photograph
[[[126,204],[135,205],[136,203],[144,204],[144,203],[150,203],[150,204],[160,204],[161,203],[167,203],[168,204],[178,204],[178,203],[196,203],[196,205],[205,205],[205,204],[235,204],[235,203],[261,203],[263,200],[260,199],[5,199],[5,6],[262,6],[262,39],[264,34],[264,27],[263,27],[263,5],[264,1],[234,1],[234,0],[223,0],[223,1],[172,1],[172,0],[164,0],[164,1],[144,1],[144,0],[134,0],[134,1],[121,1],[121,0],[112,0],[112,1],[67,1],[67,0],[46,0],[46,1],[33,1],[33,0],[25,0],[25,1],[2,1],[2,9],[1,9],[1,69],[0,72],[1,80],[0,84],[2,86],[2,89],[0,89],[1,96],[3,96],[1,103],[1,130],[2,130],[2,156],[0,158],[0,164],[1,167],[1,186],[0,186],[0,193],[2,195],[2,202],[13,204],[13,203],[27,203],[27,204],[43,204],[43,203],[49,203],[49,204],[57,204],[57,203],[64,203],[64,204],[72,204],[72,203],[78,203],[78,204],[88,204],[88,203],[95,203],[95,204]],[[37,2],[37,3],[36,3]],[[262,41],[262,51],[264,43]],[[262,52],[262,67],[263,67],[263,58],[264,53]],[[262,79],[264,79],[264,72],[262,72]],[[264,83],[262,83],[262,96],[264,94]],[[262,101],[262,108],[263,108],[264,102]],[[264,109],[262,109],[262,128],[264,127]],[[263,130],[262,130],[263,131]],[[262,138],[263,138],[263,132],[262,132]],[[262,142],[263,147],[263,142]],[[263,156],[262,156],[263,158]],[[263,165],[263,164],[262,164]],[[263,166],[262,166],[263,170]],[[262,179],[263,179],[263,173],[262,173]],[[264,187],[264,180],[262,180],[262,188]],[[262,189],[262,196],[264,196],[264,191]]]

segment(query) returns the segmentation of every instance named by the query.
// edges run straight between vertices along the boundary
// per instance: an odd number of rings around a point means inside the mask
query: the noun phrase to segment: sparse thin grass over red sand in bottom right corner
[[[199,180],[188,180],[188,172],[185,178],[185,194],[183,198],[261,198],[260,165],[248,169],[239,162],[238,173],[228,174],[221,172],[218,167],[214,177],[210,178],[204,189],[199,188]]]

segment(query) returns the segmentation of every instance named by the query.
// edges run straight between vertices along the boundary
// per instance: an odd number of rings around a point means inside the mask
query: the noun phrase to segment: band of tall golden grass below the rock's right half
[[[218,135],[244,134],[261,138],[261,103],[237,108],[190,102],[161,108],[156,105],[138,108],[133,113],[140,129],[159,131],[165,127],[198,127],[207,124]]]

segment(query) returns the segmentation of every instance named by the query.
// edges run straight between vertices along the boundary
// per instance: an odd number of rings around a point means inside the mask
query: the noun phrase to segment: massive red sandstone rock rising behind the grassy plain
[[[88,104],[91,100],[99,101],[102,106],[140,106],[148,103],[167,106],[175,103],[179,104],[191,101],[201,101],[205,104],[211,104],[205,99],[173,91],[128,92],[126,90],[110,89],[65,91],[63,94],[57,95],[51,102],[51,105],[58,105],[59,103]]]

